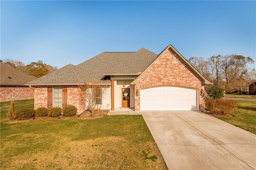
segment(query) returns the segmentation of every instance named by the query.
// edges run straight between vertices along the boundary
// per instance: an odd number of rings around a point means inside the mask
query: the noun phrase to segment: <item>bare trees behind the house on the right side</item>
[[[247,86],[256,81],[256,70],[248,64],[254,61],[242,55],[217,55],[204,60],[190,57],[188,61],[210,82],[226,93],[246,91]]]

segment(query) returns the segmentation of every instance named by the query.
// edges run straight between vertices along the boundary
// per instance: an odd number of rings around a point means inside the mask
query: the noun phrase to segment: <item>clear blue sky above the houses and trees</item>
[[[1,59],[61,68],[104,51],[256,61],[256,1],[0,1]],[[255,67],[255,64],[252,65]]]

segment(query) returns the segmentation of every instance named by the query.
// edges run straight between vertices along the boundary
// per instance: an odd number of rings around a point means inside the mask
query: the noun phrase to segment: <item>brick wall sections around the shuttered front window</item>
[[[34,92],[34,109],[39,107],[47,107],[47,88],[48,87],[36,87]],[[78,113],[84,111],[84,105],[80,102],[81,89],[79,87],[67,87],[67,104],[74,105],[77,108]],[[54,100],[54,90],[52,90],[52,106]]]

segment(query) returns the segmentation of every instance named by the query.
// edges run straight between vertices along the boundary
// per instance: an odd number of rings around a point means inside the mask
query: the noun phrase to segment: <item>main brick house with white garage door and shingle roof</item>
[[[211,84],[172,45],[159,55],[141,48],[136,52],[104,52],[84,63],[68,64],[29,82],[38,107],[74,105],[78,113],[81,84],[104,84],[108,91],[99,105],[112,110],[204,110],[204,90]]]

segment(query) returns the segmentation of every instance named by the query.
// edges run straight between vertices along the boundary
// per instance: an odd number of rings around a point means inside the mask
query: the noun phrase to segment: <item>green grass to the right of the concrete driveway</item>
[[[217,117],[225,122],[256,134],[256,102],[235,101],[238,108],[232,113],[234,117]]]

